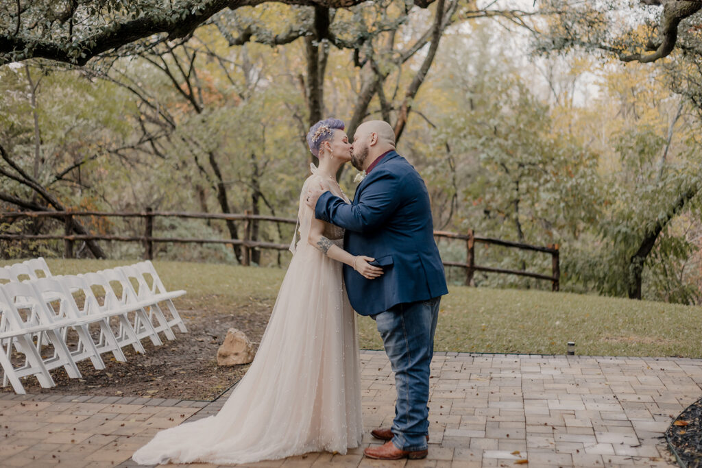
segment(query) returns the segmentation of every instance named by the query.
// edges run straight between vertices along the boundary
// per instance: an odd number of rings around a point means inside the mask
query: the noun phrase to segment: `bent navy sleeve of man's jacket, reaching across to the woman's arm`
[[[369,180],[359,194],[358,203],[349,204],[324,192],[317,201],[314,214],[318,219],[354,232],[372,232],[395,212],[400,201],[400,180],[392,173],[379,174]]]

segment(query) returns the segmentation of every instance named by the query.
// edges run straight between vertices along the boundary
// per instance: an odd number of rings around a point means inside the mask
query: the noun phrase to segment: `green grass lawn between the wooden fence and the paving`
[[[12,262],[0,262],[8,265]],[[53,274],[95,271],[133,261],[47,260]],[[179,307],[223,310],[258,302],[272,307],[285,270],[206,263],[154,262],[169,289],[185,289]],[[437,351],[590,356],[702,357],[702,307],[663,302],[453,286],[442,300]],[[381,349],[372,319],[359,320],[363,349]]]

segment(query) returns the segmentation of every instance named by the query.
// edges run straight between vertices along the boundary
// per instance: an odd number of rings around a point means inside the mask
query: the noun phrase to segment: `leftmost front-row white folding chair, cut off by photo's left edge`
[[[0,365],[3,369],[3,387],[11,383],[15,393],[25,394],[20,378],[27,375],[35,375],[41,387],[55,387],[51,374],[32,342],[34,333],[43,329],[42,326],[27,326],[23,323],[12,301],[6,297],[3,286],[0,286]],[[16,365],[13,363],[18,361],[15,351],[25,356]]]

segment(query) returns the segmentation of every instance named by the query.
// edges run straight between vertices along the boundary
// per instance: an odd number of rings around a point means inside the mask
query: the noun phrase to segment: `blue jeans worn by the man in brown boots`
[[[395,372],[392,443],[400,450],[426,450],[429,433],[429,365],[441,297],[398,304],[374,315]]]

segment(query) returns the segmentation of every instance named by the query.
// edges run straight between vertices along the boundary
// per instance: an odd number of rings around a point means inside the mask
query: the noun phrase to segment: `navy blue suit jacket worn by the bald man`
[[[434,241],[429,193],[419,173],[393,151],[362,180],[351,204],[324,192],[314,213],[346,229],[344,248],[376,259],[385,274],[365,279],[344,265],[346,290],[361,315],[449,292]]]

